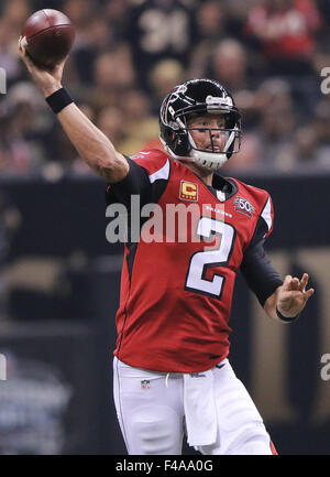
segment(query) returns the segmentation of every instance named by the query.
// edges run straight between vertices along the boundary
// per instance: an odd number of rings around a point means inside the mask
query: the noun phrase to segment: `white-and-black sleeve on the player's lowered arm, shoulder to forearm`
[[[248,286],[254,292],[262,306],[277,286],[283,284],[283,278],[272,265],[264,249],[264,242],[273,231],[273,224],[274,208],[272,198],[267,194],[253,237],[244,251],[241,263],[241,272]]]

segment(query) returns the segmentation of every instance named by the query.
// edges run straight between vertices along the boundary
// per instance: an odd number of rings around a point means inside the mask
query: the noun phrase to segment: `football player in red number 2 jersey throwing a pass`
[[[228,319],[240,269],[266,314],[280,323],[298,317],[314,290],[308,275],[283,280],[264,241],[274,212],[266,191],[222,177],[239,151],[241,115],[230,93],[211,79],[174,88],[161,108],[164,150],[134,158],[79,110],[62,86],[65,62],[54,72],[33,65],[34,82],[58,116],[80,156],[108,183],[108,204],[196,204],[187,240],[125,242],[114,401],[129,454],[180,454],[184,435],[202,454],[276,453],[263,420],[228,359]],[[202,207],[208,205],[208,207]],[[130,210],[129,210],[130,212]],[[199,240],[194,240],[196,237]]]

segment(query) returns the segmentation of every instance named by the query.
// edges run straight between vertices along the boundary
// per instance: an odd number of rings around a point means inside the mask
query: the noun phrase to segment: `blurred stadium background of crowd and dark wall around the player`
[[[157,110],[173,85],[211,76],[232,90],[244,135],[223,173],[272,194],[270,254],[283,274],[308,271],[317,292],[298,322],[280,326],[263,316],[239,275],[231,361],[280,454],[329,454],[330,380],[321,362],[330,354],[327,0],[1,1],[0,354],[8,379],[0,381],[0,453],[125,453],[111,390],[122,250],[106,241],[103,181],[77,156],[18,57],[22,24],[41,8],[75,22],[64,84],[122,152],[157,147]]]

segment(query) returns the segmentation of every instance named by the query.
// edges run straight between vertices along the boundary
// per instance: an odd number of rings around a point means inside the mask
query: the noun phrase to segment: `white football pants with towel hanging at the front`
[[[133,368],[114,358],[113,394],[129,454],[180,455],[185,434],[205,455],[276,453],[228,359],[206,373],[186,375]]]

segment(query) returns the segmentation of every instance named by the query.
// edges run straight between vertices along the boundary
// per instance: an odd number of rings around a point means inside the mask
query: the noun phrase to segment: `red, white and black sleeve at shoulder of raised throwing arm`
[[[140,196],[140,205],[157,203],[164,193],[170,173],[169,159],[162,151],[141,152],[125,156],[129,173],[120,182],[108,184],[107,205],[120,203],[130,208],[132,195]]]

